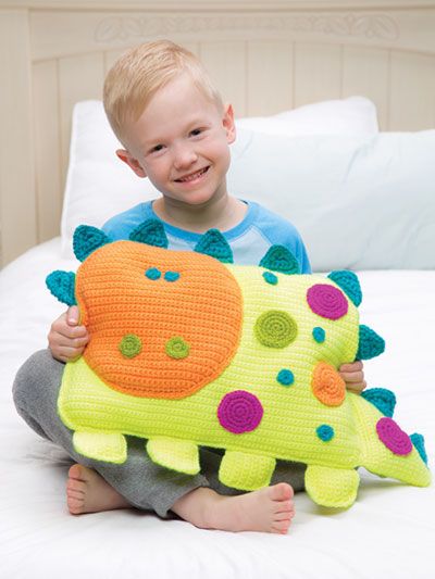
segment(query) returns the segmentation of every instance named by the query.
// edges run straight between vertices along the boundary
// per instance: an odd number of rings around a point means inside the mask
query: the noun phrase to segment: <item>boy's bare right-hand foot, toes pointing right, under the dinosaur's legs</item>
[[[201,529],[285,534],[295,516],[293,495],[286,482],[238,496],[199,488],[178,499],[172,511]]]

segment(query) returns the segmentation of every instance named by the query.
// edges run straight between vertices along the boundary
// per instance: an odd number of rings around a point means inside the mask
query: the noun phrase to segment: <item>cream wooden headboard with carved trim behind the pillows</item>
[[[382,130],[435,127],[435,0],[0,0],[0,263],[59,235],[72,108],[154,38],[238,116],[363,95]]]

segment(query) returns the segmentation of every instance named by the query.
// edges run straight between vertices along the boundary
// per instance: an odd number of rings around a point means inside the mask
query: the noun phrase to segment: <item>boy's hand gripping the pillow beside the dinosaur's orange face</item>
[[[60,362],[71,362],[78,357],[89,341],[85,326],[78,326],[78,307],[72,305],[58,317],[50,328],[48,344],[51,355]]]

